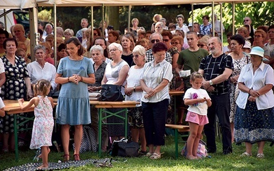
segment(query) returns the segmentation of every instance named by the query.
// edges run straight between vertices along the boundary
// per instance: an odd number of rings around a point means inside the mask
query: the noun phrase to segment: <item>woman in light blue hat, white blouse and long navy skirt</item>
[[[251,64],[240,71],[235,114],[236,144],[245,142],[245,153],[252,155],[252,144],[258,144],[258,158],[264,157],[265,141],[274,142],[274,74],[269,64],[264,64],[264,50],[261,47],[251,49]]]

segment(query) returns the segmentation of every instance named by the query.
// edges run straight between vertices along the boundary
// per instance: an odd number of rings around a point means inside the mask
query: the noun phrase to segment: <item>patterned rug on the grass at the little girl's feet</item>
[[[37,170],[37,168],[42,163],[26,163],[21,166],[14,166],[12,168],[8,168],[5,171],[11,171],[11,170]],[[67,161],[67,162],[60,162],[60,163],[49,163],[49,168],[42,169],[42,170],[62,170],[65,168],[71,168],[71,167],[79,167],[79,166],[85,166],[88,164],[93,164],[96,167],[112,167],[112,159],[86,159],[86,160],[80,160],[80,161]]]

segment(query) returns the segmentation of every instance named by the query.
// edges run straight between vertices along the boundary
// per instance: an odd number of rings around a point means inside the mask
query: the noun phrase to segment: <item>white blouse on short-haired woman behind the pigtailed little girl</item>
[[[55,66],[46,62],[44,68],[42,68],[38,62],[34,61],[27,64],[27,71],[29,72],[31,83],[37,83],[40,79],[46,79],[51,82],[51,87],[55,90],[57,86],[57,83],[55,83]]]

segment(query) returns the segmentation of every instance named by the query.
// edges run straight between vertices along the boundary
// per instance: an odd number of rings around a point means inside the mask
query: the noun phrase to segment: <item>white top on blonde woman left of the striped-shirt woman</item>
[[[142,76],[142,72],[144,71],[144,68],[138,68],[135,69],[135,66],[130,67],[128,77],[127,77],[127,87],[133,88],[140,86],[140,79]],[[132,92],[132,95],[125,96],[125,101],[141,101],[142,98],[142,92]],[[136,107],[139,107],[140,105],[136,105]]]

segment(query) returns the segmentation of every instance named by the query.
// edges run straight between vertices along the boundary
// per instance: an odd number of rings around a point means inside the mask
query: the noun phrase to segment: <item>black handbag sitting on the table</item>
[[[121,92],[122,86],[103,84],[99,101],[123,101],[125,98]]]

